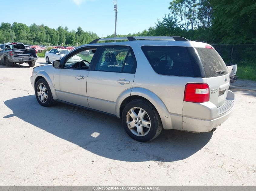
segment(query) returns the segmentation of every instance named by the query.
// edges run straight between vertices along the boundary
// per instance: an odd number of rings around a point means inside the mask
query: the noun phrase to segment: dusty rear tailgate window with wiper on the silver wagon
[[[204,66],[206,78],[228,74],[227,67],[215,49],[196,48]]]

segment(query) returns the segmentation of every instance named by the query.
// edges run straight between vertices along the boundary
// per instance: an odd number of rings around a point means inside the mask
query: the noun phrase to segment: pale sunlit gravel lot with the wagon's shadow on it
[[[0,185],[256,185],[255,82],[231,84],[235,107],[215,132],[139,143],[115,117],[40,106],[32,68],[0,65]]]

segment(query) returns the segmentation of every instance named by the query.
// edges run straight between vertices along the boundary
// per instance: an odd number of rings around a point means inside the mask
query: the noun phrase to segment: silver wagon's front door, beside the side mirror
[[[83,51],[95,52],[95,48],[82,48],[68,54],[64,59],[62,68],[56,68],[54,72],[55,91],[59,100],[73,103],[83,107],[89,107],[87,101],[86,82],[89,73],[89,64],[72,59],[73,56],[81,56]],[[83,56],[83,60],[93,62],[93,54]]]

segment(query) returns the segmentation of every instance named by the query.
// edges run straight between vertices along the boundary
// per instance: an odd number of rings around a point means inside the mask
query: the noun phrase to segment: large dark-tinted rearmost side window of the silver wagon
[[[161,75],[194,77],[193,67],[183,46],[141,46],[154,71]]]

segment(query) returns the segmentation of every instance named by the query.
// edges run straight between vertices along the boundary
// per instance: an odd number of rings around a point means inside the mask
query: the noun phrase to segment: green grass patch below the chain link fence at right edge
[[[256,81],[256,66],[238,66],[236,75],[238,79]]]

